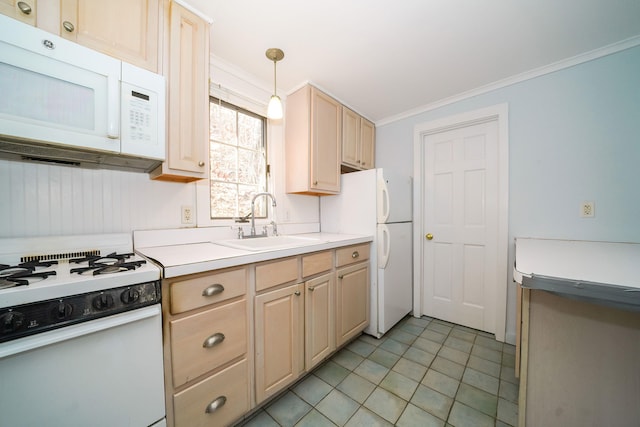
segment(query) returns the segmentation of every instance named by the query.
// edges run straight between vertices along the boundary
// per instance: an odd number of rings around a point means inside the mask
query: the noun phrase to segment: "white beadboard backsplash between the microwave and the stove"
[[[195,184],[145,173],[0,160],[0,237],[118,233],[184,227]]]

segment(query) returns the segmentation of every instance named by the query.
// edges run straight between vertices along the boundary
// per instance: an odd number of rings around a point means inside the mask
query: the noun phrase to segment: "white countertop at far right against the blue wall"
[[[514,280],[533,275],[640,288],[640,244],[517,238]]]

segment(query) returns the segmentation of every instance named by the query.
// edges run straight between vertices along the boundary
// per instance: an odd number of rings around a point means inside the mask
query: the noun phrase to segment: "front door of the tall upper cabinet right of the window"
[[[311,189],[340,192],[341,105],[311,88]]]

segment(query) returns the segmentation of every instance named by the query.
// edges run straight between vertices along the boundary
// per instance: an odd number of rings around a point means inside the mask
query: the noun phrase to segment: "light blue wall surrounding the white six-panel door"
[[[376,165],[413,170],[416,124],[505,102],[509,265],[514,237],[640,242],[638,46],[380,126]],[[595,218],[579,217],[584,200]],[[509,286],[507,335],[514,295]]]

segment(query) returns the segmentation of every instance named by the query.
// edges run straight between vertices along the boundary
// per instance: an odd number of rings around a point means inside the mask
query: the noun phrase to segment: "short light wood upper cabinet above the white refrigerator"
[[[342,165],[371,169],[374,165],[375,126],[347,107],[342,107]]]

